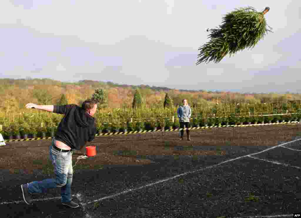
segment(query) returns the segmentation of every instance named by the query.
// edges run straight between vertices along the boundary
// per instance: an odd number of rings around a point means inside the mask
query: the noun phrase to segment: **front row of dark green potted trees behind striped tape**
[[[191,120],[192,127],[206,127],[206,126],[222,126],[222,125],[242,125],[242,124],[264,124],[264,123],[278,123],[301,121],[301,114],[295,115],[272,115],[272,116],[220,116],[220,117],[206,117],[193,118]],[[141,130],[158,130],[158,129],[178,129],[180,123],[178,120],[172,122],[168,118],[153,119],[150,121],[100,124],[97,127],[97,133],[116,133],[129,132]],[[57,127],[29,127],[28,125],[10,125],[1,131],[5,139],[26,139],[36,137],[53,137]]]

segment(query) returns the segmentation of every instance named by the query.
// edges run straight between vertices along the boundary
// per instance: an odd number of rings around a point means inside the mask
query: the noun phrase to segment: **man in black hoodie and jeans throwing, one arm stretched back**
[[[64,114],[57,127],[57,132],[49,146],[50,159],[54,165],[55,178],[35,181],[21,185],[23,199],[31,204],[32,193],[46,192],[47,189],[61,188],[61,203],[69,207],[79,207],[72,201],[71,183],[73,177],[72,150],[79,150],[86,142],[94,140],[96,134],[95,118],[97,104],[93,100],[85,100],[82,107],[70,105],[36,105],[26,104],[26,108],[35,108]]]

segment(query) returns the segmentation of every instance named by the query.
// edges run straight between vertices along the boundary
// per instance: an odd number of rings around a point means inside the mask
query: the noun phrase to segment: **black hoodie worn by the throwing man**
[[[54,113],[64,114],[54,135],[55,139],[65,143],[71,149],[79,150],[86,142],[95,138],[95,118],[75,104],[54,105]]]

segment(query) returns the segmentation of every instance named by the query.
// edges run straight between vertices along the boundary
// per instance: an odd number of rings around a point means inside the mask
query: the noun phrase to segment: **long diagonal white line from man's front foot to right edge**
[[[109,195],[109,196],[106,196],[106,197],[103,197],[103,198],[99,198],[99,199],[94,200],[94,201],[90,201],[90,202],[86,203],[85,205],[91,204],[91,203],[95,203],[95,202],[98,202],[98,201],[102,201],[102,200],[108,199],[108,198],[114,198],[114,197],[119,196],[119,195],[122,195],[122,194],[126,194],[126,193],[129,193],[129,192],[132,192],[132,191],[136,191],[136,190],[139,190],[139,189],[143,189],[143,188],[146,188],[146,187],[148,187],[148,186],[153,186],[153,185],[158,184],[158,183],[163,183],[163,182],[166,182],[166,181],[168,181],[168,180],[172,180],[172,179],[175,179],[175,178],[177,178],[177,177],[184,176],[184,175],[187,175],[187,174],[196,173],[196,172],[199,172],[199,171],[202,171],[202,170],[210,169],[210,168],[219,166],[219,165],[221,165],[221,164],[225,164],[225,163],[228,163],[228,162],[231,162],[231,161],[235,161],[235,160],[238,160],[238,159],[241,159],[241,158],[251,157],[251,155],[257,155],[257,154],[260,154],[260,153],[262,153],[262,152],[266,152],[266,151],[268,151],[268,150],[271,150],[271,149],[274,149],[274,148],[277,148],[277,147],[286,145],[286,144],[288,144],[288,143],[296,142],[296,141],[298,141],[298,140],[301,140],[301,139],[296,139],[296,140],[293,140],[293,141],[290,141],[290,142],[286,142],[286,143],[283,143],[283,144],[280,144],[280,145],[276,145],[276,146],[273,146],[273,147],[271,147],[271,148],[265,149],[265,150],[263,150],[263,151],[261,151],[261,152],[256,152],[256,153],[253,153],[253,154],[240,156],[240,157],[233,158],[233,159],[230,159],[230,160],[227,160],[227,161],[223,161],[223,162],[221,162],[221,163],[214,164],[214,165],[211,165],[211,166],[208,166],[208,167],[204,167],[204,168],[201,168],[201,169],[198,169],[198,170],[188,171],[188,172],[186,172],[186,173],[181,173],[181,174],[178,174],[178,175],[176,175],[176,176],[174,176],[174,177],[169,177],[169,178],[164,179],[164,180],[159,180],[159,181],[157,181],[157,182],[155,182],[155,183],[150,183],[150,184],[148,184],[148,185],[140,186],[140,187],[135,188],[135,189],[128,189],[128,190],[125,190],[125,191],[123,191],[123,192],[116,193],[116,194],[114,194],[114,195]]]

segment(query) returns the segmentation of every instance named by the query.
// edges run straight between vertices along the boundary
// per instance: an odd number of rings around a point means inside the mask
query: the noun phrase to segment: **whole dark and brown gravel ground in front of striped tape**
[[[10,142],[0,147],[0,209],[3,217],[292,217],[301,211],[300,127],[193,130],[192,141],[177,132],[97,137],[87,144],[97,156],[74,167],[76,209],[60,204],[59,189],[23,202],[20,184],[53,176],[50,140]]]

